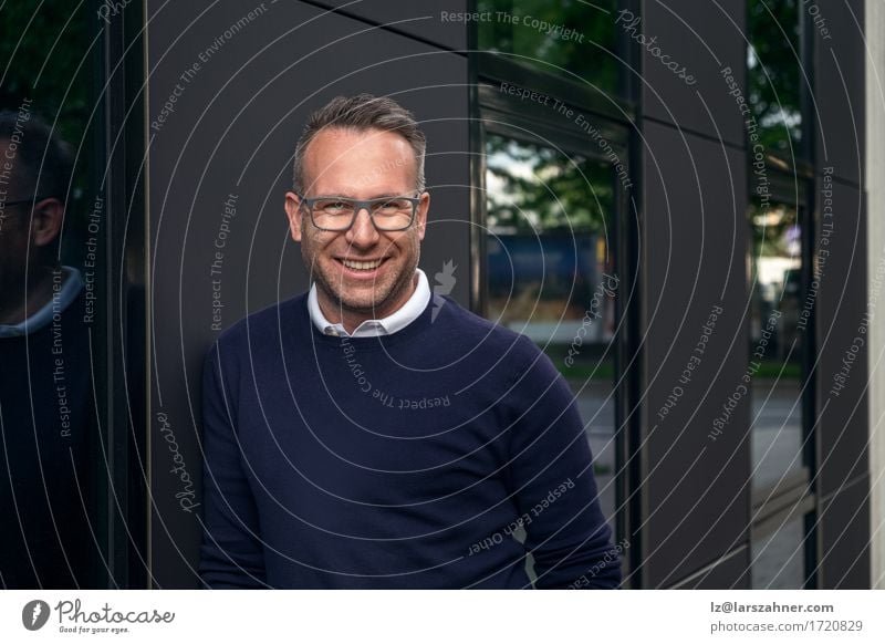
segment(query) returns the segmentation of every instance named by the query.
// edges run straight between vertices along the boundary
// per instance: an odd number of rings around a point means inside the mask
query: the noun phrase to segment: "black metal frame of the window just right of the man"
[[[538,143],[538,137],[527,136],[525,132],[540,133],[561,149],[611,164],[604,155],[587,145],[587,135],[573,122],[555,116],[549,106],[527,104],[496,89],[502,82],[519,83],[551,96],[560,97],[575,111],[592,117],[612,148],[627,168],[633,189],[626,190],[613,175],[615,190],[614,237],[615,262],[623,276],[622,293],[636,293],[639,288],[638,271],[638,207],[633,198],[637,191],[639,158],[632,132],[639,129],[636,123],[636,106],[627,98],[602,96],[592,89],[573,81],[556,79],[527,65],[520,65],[506,56],[478,52],[477,29],[470,30],[469,38],[470,74],[470,176],[475,189],[471,190],[471,268],[470,307],[480,315],[488,312],[487,290],[487,243],[486,222],[486,135],[494,133],[512,138]],[[635,82],[635,79],[634,79]],[[633,87],[633,83],[627,84]],[[629,92],[625,92],[629,94]],[[634,92],[635,94],[635,92]],[[568,97],[568,101],[565,100]],[[534,141],[532,141],[534,138]],[[614,165],[612,165],[614,168]],[[641,485],[641,459],[637,446],[641,445],[642,428],[637,401],[639,399],[639,377],[642,374],[642,347],[639,341],[639,311],[637,307],[627,309],[625,300],[615,298],[615,315],[618,332],[615,335],[615,374],[618,381],[612,383],[615,389],[615,539],[632,534],[631,552],[624,559],[625,575],[633,583],[625,586],[641,586],[639,565],[636,558],[642,553],[639,534],[634,534],[641,521],[642,498],[635,490]]]

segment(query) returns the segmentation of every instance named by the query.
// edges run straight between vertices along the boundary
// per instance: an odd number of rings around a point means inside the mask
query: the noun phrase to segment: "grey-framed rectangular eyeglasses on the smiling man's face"
[[[377,230],[392,232],[405,230],[415,221],[419,197],[379,197],[377,199],[348,199],[346,197],[298,196],[311,214],[311,221],[320,230],[341,232],[348,230],[363,208]]]

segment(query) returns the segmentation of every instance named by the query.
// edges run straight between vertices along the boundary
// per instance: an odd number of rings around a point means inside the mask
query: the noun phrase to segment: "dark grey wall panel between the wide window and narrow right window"
[[[642,11],[642,33],[694,76],[641,49],[642,583],[748,588],[749,396],[714,432],[747,365],[746,135],[720,74],[730,66],[747,96],[745,2],[649,0]]]

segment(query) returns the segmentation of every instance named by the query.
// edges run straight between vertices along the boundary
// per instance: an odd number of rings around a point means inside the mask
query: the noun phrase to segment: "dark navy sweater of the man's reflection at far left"
[[[95,583],[84,312],[81,292],[48,326],[0,337],[0,589]]]

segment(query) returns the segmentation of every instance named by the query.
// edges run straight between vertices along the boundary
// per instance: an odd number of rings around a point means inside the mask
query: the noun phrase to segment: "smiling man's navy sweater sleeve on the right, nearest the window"
[[[546,355],[527,337],[519,342],[530,357],[507,394],[513,415],[508,469],[535,588],[617,588],[621,559],[600,509],[574,397]]]

